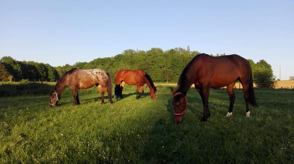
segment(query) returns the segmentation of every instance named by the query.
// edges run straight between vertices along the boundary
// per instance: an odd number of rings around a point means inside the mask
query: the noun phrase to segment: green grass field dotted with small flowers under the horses
[[[0,98],[0,163],[293,163],[294,91],[256,89],[258,108],[245,118],[242,90],[235,90],[233,116],[226,90],[211,90],[207,122],[195,89],[187,94],[184,120],[174,123],[171,93],[159,86],[136,100],[100,105],[100,94],[62,94],[55,108],[49,96]],[[89,90],[96,90],[91,88]]]

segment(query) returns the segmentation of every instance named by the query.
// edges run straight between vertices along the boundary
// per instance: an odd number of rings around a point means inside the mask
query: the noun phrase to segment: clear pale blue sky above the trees
[[[294,1],[0,1],[0,58],[73,65],[190,45],[294,76]]]

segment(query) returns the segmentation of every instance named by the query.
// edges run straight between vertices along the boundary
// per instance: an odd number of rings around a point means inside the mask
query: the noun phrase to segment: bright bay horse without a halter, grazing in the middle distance
[[[120,95],[123,98],[123,87],[126,84],[136,85],[137,93],[136,99],[139,99],[144,93],[144,84],[149,87],[149,94],[153,100],[157,99],[156,88],[153,84],[151,77],[141,69],[137,70],[120,70],[115,74],[115,95],[114,98]],[[141,89],[141,94],[138,96],[139,88]]]

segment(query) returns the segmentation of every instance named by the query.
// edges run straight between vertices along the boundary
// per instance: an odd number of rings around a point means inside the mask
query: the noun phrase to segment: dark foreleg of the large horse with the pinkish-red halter
[[[203,102],[203,116],[201,119],[201,122],[204,122],[210,117],[210,111],[208,108],[208,99],[209,99],[209,91],[210,91],[210,86],[202,86],[201,89],[199,89],[199,94],[202,98]]]

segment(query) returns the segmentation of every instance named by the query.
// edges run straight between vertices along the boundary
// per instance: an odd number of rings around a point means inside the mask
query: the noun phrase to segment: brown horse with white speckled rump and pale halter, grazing
[[[60,94],[66,86],[70,87],[74,92],[74,105],[79,105],[78,89],[88,89],[94,85],[101,94],[101,104],[104,104],[103,89],[108,94],[109,102],[112,103],[112,82],[108,72],[100,69],[80,70],[74,68],[64,73],[56,83],[54,90],[51,90],[49,106],[56,106],[56,103],[60,100]]]

